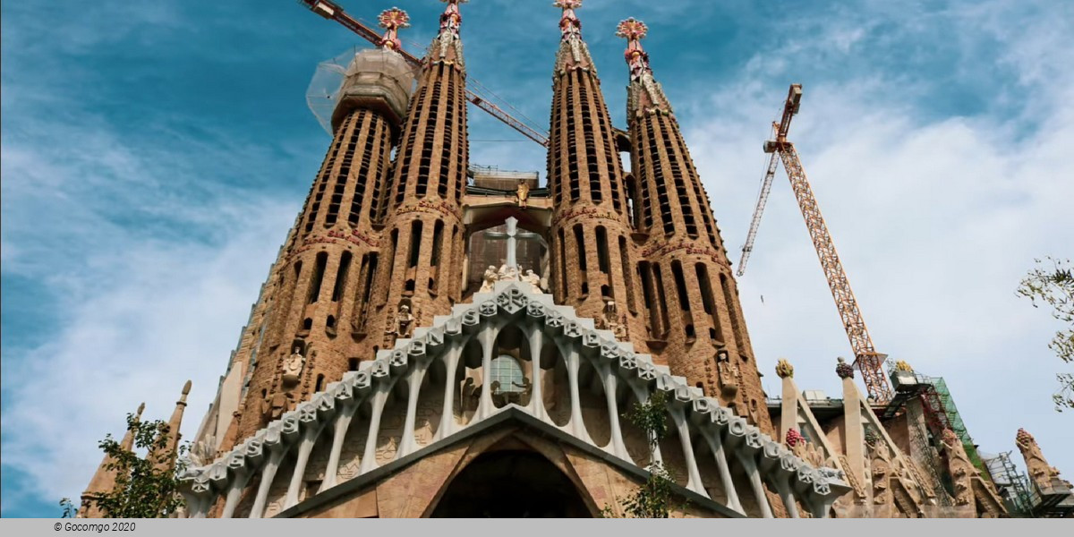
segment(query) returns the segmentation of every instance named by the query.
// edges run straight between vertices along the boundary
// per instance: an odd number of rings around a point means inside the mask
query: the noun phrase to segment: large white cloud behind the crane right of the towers
[[[1074,77],[1061,68],[1074,64],[1062,38],[1072,19],[1007,17],[991,26],[1011,4],[989,6],[947,15],[997,32],[995,61],[1016,70],[1017,87],[1007,89],[1022,95],[1013,117],[932,117],[915,97],[934,89],[927,74],[903,91],[877,70],[807,87],[789,137],[877,350],[945,377],[982,450],[1014,449],[1025,426],[1054,465],[1074,468],[1064,452],[1069,418],[1053,411],[1049,397],[1063,367],[1046,348],[1057,326],[1014,293],[1034,258],[1070,257],[1074,245]],[[831,31],[837,41],[845,34],[838,25]],[[742,77],[684,108],[687,141],[736,262],[767,162],[758,130],[786,95],[786,86],[766,83],[797,82],[794,66],[809,60],[810,48],[779,63],[761,50]],[[834,357],[850,357],[848,343],[782,171],[740,287],[769,393],[779,394],[777,359],[788,358],[800,387],[840,396]]]

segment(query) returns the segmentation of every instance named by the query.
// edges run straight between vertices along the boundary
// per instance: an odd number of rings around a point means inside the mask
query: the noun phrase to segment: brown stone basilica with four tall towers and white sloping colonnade
[[[876,405],[843,362],[839,398],[800,390],[786,361],[782,393],[765,393],[641,21],[618,28],[626,130],[581,0],[557,0],[547,185],[473,165],[466,0],[444,1],[418,69],[397,9],[350,60],[328,154],[189,439],[184,516],[624,516],[651,455],[674,481],[672,517],[1074,511],[1029,433],[1017,447],[1030,475],[1004,481],[1010,461],[976,451],[953,403],[930,427],[928,401]],[[899,390],[942,382],[905,363],[890,375]],[[623,416],[656,392],[669,434],[650,453]],[[934,392],[944,410],[949,394]],[[102,465],[86,493],[110,483]]]

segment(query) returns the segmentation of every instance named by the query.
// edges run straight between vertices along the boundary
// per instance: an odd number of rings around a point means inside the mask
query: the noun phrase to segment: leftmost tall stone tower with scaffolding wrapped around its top
[[[332,114],[332,144],[271,282],[271,309],[234,441],[339,380],[380,345],[380,324],[368,322],[369,299],[383,260],[381,203],[413,69],[398,53],[406,12],[387,10],[378,21],[384,37],[347,68]],[[378,336],[368,337],[371,331]]]

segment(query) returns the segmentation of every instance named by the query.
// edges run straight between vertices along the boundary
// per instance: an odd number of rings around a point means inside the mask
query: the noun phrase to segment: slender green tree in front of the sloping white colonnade
[[[649,477],[634,494],[620,504],[628,517],[636,519],[666,519],[672,508],[674,480],[664,465],[655,460],[656,446],[667,436],[667,395],[656,391],[644,403],[635,403],[626,413],[626,419],[645,432],[649,440]],[[605,506],[604,516],[614,517],[610,506]]]

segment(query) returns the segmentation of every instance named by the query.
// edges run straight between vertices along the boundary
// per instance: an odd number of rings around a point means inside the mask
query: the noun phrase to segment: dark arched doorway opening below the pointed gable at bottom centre
[[[591,518],[575,484],[532,451],[492,451],[469,463],[448,485],[432,518]]]

